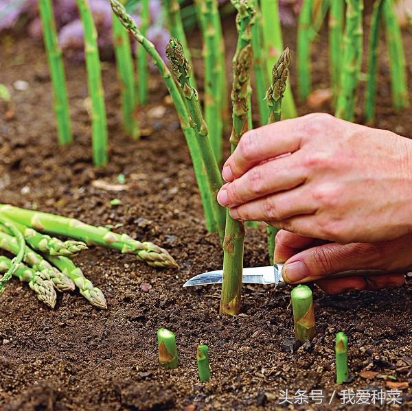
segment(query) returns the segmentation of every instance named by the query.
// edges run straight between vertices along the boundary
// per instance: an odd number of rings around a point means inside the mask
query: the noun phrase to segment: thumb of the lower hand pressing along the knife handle
[[[384,267],[381,248],[375,244],[324,244],[301,251],[284,264],[288,283],[312,281],[345,270],[373,270]]]

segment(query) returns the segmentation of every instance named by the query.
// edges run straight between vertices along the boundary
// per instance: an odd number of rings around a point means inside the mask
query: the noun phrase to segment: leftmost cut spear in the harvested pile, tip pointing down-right
[[[11,266],[12,260],[1,255],[0,272],[7,272]],[[56,291],[54,291],[52,281],[42,272],[35,272],[32,268],[28,268],[23,263],[20,263],[13,275],[20,281],[29,283],[29,287],[36,293],[37,298],[45,305],[54,308],[56,305]]]

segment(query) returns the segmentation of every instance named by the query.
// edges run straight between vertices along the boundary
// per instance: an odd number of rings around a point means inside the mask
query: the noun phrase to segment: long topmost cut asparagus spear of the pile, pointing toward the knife
[[[163,248],[150,242],[139,242],[127,234],[116,234],[106,228],[84,224],[74,218],[19,209],[8,204],[0,204],[0,213],[38,231],[75,238],[89,245],[114,248],[122,253],[135,254],[137,259],[145,261],[149,266],[177,267],[176,261]]]

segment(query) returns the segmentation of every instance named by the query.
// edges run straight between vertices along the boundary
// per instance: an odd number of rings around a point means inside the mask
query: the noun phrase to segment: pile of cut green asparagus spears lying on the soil
[[[49,234],[70,239],[63,242]],[[113,233],[108,228],[91,226],[73,218],[0,204],[0,248],[16,256],[10,259],[0,255],[0,272],[3,273],[0,294],[5,283],[14,276],[27,282],[37,298],[49,307],[56,305],[56,290],[67,292],[78,287],[80,294],[95,307],[107,308],[102,291],[71,261],[71,257],[90,245],[135,254],[150,266],[177,267],[166,250],[150,242],[139,242],[126,234]]]

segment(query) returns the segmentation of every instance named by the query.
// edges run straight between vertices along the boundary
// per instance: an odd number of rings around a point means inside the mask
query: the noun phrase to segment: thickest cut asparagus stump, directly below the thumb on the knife
[[[292,296],[295,338],[301,342],[310,341],[316,333],[312,290],[307,285],[298,285],[290,294]]]

